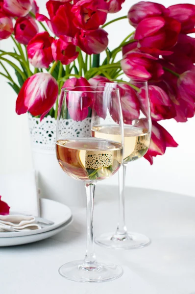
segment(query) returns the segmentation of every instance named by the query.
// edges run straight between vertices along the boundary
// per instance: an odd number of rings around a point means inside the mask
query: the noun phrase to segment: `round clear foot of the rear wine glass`
[[[124,238],[117,238],[113,233],[102,234],[95,239],[97,245],[110,249],[137,249],[150,244],[145,235],[129,232]]]

